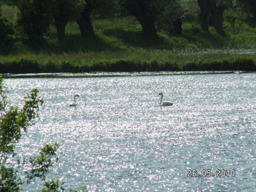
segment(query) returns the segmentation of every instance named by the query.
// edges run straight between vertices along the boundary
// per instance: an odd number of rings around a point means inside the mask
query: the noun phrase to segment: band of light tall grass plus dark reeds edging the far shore
[[[159,71],[256,71],[255,50],[166,50],[90,52],[63,55],[0,57],[2,74],[159,72]]]

